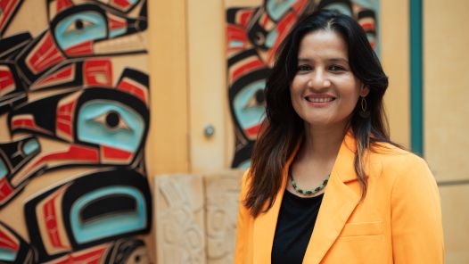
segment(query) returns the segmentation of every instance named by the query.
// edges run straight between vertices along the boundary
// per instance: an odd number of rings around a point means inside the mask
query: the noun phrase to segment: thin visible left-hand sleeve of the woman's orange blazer
[[[250,235],[250,225],[251,225],[251,213],[244,206],[243,201],[246,197],[248,185],[247,177],[249,170],[246,171],[243,175],[243,182],[241,186],[241,193],[238,206],[238,219],[236,224],[236,243],[234,247],[234,264],[243,264],[247,263],[246,259],[249,254],[249,247],[251,241]]]

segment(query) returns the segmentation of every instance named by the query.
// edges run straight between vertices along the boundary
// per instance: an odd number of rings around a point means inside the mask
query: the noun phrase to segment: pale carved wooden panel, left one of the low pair
[[[154,179],[157,263],[206,263],[202,177]]]

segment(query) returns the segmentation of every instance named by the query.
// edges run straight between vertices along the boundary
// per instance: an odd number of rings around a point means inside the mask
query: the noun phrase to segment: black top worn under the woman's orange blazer
[[[323,194],[304,198],[285,190],[276,223],[272,264],[302,263],[322,201]]]

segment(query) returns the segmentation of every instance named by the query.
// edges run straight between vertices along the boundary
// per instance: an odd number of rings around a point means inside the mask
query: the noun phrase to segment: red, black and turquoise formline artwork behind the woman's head
[[[266,78],[294,23],[318,9],[337,10],[358,21],[379,54],[379,0],[263,0],[247,7],[235,2],[226,0],[226,80],[235,139],[231,167],[247,168],[265,119]]]

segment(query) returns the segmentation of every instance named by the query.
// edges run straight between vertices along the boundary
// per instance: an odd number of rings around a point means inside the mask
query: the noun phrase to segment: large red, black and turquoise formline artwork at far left
[[[146,1],[0,11],[0,262],[148,262]]]

